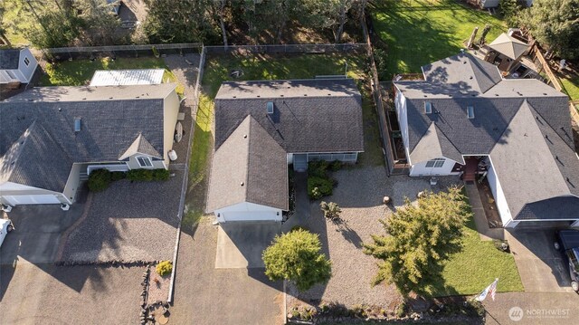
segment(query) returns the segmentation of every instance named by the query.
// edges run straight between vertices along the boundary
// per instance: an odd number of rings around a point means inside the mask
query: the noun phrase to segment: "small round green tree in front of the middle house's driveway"
[[[271,281],[295,282],[299,291],[307,291],[332,276],[332,263],[320,253],[318,234],[296,229],[277,235],[262,253],[265,274]]]

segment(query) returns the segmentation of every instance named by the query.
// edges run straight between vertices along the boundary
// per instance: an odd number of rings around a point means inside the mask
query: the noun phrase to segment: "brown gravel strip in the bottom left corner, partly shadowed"
[[[2,324],[138,324],[145,268],[0,267]]]

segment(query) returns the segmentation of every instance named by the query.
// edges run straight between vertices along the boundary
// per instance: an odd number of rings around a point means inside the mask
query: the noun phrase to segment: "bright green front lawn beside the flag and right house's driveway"
[[[463,229],[462,251],[445,264],[439,285],[431,288],[433,296],[477,294],[498,278],[498,292],[522,292],[515,259],[495,248],[491,241],[481,241],[472,218]]]

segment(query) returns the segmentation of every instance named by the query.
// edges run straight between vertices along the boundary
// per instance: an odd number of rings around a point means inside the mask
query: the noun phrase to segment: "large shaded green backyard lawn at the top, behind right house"
[[[491,26],[492,42],[507,25],[454,0],[390,0],[371,5],[375,33],[386,46],[387,75],[421,72],[424,64],[457,54],[475,26]],[[478,35],[479,35],[478,34]]]

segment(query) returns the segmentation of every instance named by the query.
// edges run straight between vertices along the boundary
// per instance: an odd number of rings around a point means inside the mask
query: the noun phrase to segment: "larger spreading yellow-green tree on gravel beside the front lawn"
[[[460,250],[462,225],[470,216],[460,188],[427,192],[414,206],[406,199],[388,220],[381,220],[389,235],[372,235],[364,252],[382,260],[373,280],[394,283],[403,295],[423,292],[441,281],[442,263]]]

